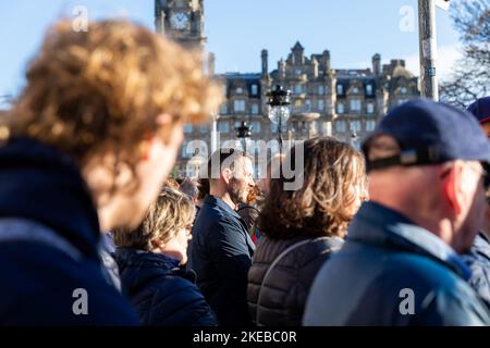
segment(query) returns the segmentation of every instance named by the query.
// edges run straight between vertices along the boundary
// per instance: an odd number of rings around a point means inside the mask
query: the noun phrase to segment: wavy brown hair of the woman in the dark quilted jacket
[[[295,163],[295,151],[292,148],[283,163],[297,172],[301,163]],[[356,188],[366,185],[363,156],[345,142],[318,137],[304,142],[303,158],[299,189],[284,190],[284,183],[291,181],[284,176],[271,179],[258,221],[260,233],[271,239],[343,237],[353,217],[348,208]]]

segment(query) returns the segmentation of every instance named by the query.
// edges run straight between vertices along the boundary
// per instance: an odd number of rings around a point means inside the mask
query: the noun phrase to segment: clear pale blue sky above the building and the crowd
[[[73,16],[77,5],[87,8],[90,20],[126,16],[154,27],[152,0],[0,0],[0,96],[20,91],[48,25]],[[206,49],[215,52],[219,73],[259,72],[264,48],[269,69],[275,69],[299,40],[306,55],[330,50],[333,69],[368,67],[378,52],[383,63],[405,59],[418,74],[417,0],[205,0],[205,15]],[[458,57],[457,33],[439,9],[437,33],[438,71],[445,76]]]

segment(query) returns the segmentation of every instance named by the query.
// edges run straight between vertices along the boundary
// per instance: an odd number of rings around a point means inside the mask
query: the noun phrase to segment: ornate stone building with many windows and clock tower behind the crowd
[[[204,49],[203,5],[203,0],[157,0],[157,30]],[[307,57],[296,42],[272,71],[267,50],[260,52],[258,73],[215,74],[213,60],[210,53],[208,72],[222,85],[225,102],[209,125],[185,126],[181,175],[195,175],[217,147],[240,145],[235,128],[242,122],[252,126],[252,141],[274,139],[266,94],[275,85],[292,92],[285,139],[332,136],[356,148],[390,108],[419,96],[418,78],[405,69],[405,61],[381,64],[380,54],[372,55],[370,67],[340,70],[331,66],[328,50]]]

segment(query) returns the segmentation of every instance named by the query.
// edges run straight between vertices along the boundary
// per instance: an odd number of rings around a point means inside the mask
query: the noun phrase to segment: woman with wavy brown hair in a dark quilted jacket
[[[301,325],[318,270],[342,246],[350,221],[367,198],[364,159],[350,145],[313,138],[304,142],[303,156],[296,156],[297,149],[284,163],[301,172],[303,185],[286,190],[284,184],[294,178],[272,178],[258,221],[262,237],[247,288],[257,325]],[[304,159],[303,169],[296,158]]]

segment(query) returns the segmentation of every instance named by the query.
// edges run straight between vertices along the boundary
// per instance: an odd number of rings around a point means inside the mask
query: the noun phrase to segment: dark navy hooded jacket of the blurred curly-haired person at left
[[[28,138],[0,147],[0,325],[135,325],[105,279],[78,167]]]

